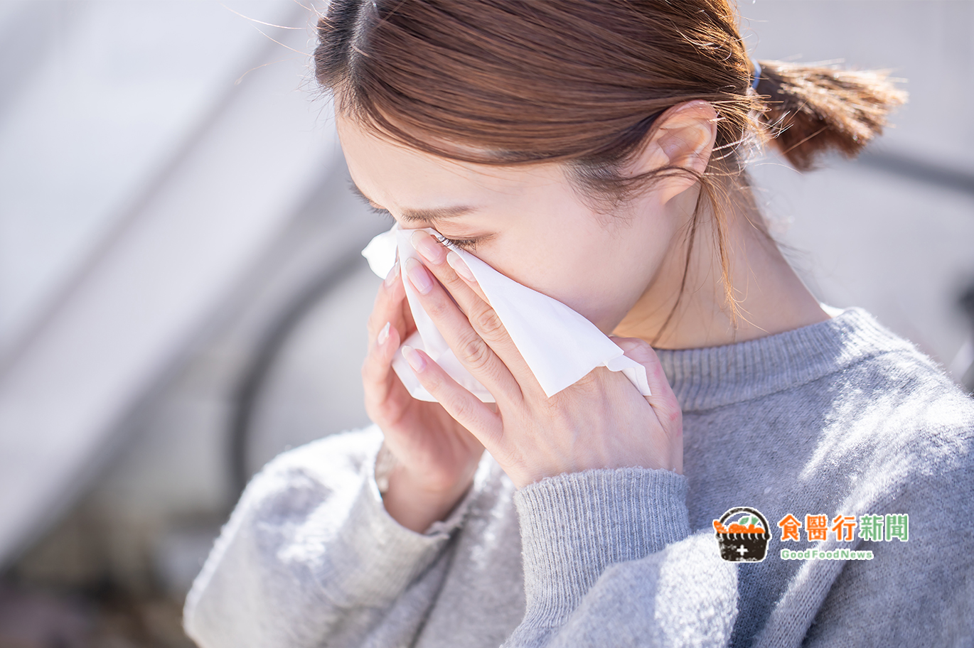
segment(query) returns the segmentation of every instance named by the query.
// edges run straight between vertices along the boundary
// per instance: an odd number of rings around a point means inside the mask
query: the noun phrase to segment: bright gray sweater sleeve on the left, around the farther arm
[[[476,485],[417,533],[386,511],[372,426],[282,453],[244,490],[186,598],[201,648],[409,642]]]

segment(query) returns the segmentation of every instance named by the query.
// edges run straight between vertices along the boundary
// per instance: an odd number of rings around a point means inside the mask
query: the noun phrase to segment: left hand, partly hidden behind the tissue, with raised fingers
[[[408,338],[416,330],[398,270],[396,263],[376,295],[368,318],[369,348],[361,375],[365,411],[382,430],[397,461],[390,489],[393,482],[397,492],[405,485],[402,494],[393,498],[395,511],[389,502],[387,508],[399,522],[422,530],[467,490],[483,446],[440,404],[414,399],[393,371],[400,335]]]

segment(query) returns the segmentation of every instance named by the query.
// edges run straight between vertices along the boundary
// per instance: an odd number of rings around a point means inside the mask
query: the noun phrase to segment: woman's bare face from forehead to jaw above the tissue
[[[652,192],[599,214],[562,164],[454,162],[338,117],[356,186],[404,229],[432,228],[508,278],[570,306],[610,334],[652,283],[674,237]]]

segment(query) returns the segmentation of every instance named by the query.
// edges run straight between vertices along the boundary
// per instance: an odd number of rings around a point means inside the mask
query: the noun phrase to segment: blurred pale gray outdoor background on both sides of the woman
[[[190,646],[249,476],[367,423],[388,229],[307,0],[0,2],[0,646]],[[858,161],[752,173],[812,292],[974,388],[974,2],[742,0],[757,58],[908,80]]]

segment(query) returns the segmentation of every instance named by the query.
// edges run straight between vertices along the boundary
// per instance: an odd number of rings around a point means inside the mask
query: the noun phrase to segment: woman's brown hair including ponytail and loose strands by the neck
[[[318,38],[318,84],[361,125],[463,162],[565,162],[603,212],[661,175],[690,172],[620,169],[663,111],[709,101],[721,119],[715,154],[693,174],[701,191],[684,281],[707,199],[733,322],[723,204],[753,205],[741,150],[773,141],[801,170],[829,149],[851,157],[906,98],[880,72],[771,60],[759,61],[752,90],[727,0],[332,0]]]

